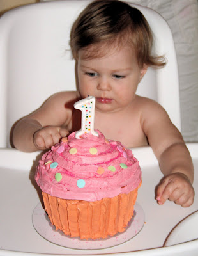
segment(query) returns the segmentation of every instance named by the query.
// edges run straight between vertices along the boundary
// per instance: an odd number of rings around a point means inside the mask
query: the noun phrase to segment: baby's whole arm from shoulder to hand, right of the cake
[[[190,206],[194,201],[194,167],[181,133],[156,102],[147,106],[143,116],[144,132],[164,173],[156,200],[159,204],[169,199],[183,207]]]

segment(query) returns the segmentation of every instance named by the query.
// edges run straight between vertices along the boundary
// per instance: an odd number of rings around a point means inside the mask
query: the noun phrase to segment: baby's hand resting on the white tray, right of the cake
[[[164,177],[156,190],[158,204],[164,204],[169,199],[183,207],[194,202],[194,188],[190,180],[183,173],[172,173]]]

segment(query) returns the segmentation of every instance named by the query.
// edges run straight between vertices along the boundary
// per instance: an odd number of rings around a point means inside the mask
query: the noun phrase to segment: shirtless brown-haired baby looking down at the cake
[[[141,12],[121,1],[90,3],[72,26],[70,46],[77,61],[78,90],[58,92],[17,122],[13,145],[33,152],[50,148],[80,129],[73,104],[95,96],[95,128],[128,148],[150,145],[164,179],[158,204],[169,199],[188,207],[194,201],[194,168],[183,138],[158,103],[135,94],[148,66],[164,67],[152,56],[152,34]]]

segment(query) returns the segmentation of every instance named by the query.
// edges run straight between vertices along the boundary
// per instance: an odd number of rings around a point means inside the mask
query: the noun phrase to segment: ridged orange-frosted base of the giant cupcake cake
[[[95,202],[42,195],[45,211],[56,230],[80,239],[97,239],[125,231],[133,216],[137,190]]]

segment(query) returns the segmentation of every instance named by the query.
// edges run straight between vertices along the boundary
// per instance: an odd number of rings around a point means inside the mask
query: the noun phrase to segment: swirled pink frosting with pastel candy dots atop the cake
[[[99,137],[84,134],[80,139],[73,132],[67,142],[57,143],[42,156],[35,179],[43,192],[63,199],[96,201],[129,193],[139,186],[141,169],[132,151],[97,132]],[[70,153],[71,148],[76,148],[75,154]],[[96,148],[94,153],[90,148]],[[55,168],[53,162],[57,163]],[[103,172],[97,172],[98,168]],[[56,179],[56,173],[60,173],[60,179]]]

